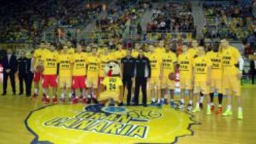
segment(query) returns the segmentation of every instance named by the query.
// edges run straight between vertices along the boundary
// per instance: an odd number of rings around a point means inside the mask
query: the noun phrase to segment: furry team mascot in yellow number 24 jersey
[[[116,61],[107,62],[105,66],[106,77],[102,82],[99,101],[105,102],[105,106],[110,105],[114,100],[114,106],[118,106],[123,94],[121,70]]]

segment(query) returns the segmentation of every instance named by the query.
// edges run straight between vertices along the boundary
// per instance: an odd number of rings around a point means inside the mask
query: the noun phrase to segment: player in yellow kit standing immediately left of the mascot
[[[96,94],[100,74],[100,58],[97,57],[97,48],[92,48],[92,55],[87,57],[87,78],[88,99],[97,103]]]

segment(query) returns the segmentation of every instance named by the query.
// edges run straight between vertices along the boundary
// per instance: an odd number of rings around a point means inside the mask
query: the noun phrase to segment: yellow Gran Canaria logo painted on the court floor
[[[191,115],[165,106],[51,105],[25,120],[32,143],[175,143],[193,135]]]

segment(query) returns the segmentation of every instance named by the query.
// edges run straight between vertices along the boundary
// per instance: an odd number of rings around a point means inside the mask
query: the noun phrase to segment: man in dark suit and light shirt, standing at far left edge
[[[11,88],[13,91],[13,94],[16,94],[16,89],[15,89],[15,77],[14,74],[17,71],[17,60],[16,56],[12,54],[12,51],[10,48],[7,49],[6,55],[4,55],[3,60],[2,60],[2,66],[4,69],[4,83],[3,83],[3,94],[2,96],[6,95],[6,89],[7,89],[7,80],[8,77],[10,77],[11,80]]]

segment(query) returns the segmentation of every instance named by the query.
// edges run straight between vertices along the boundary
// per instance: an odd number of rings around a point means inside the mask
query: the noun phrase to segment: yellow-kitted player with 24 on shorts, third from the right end
[[[206,52],[203,47],[198,47],[198,57],[193,61],[193,78],[194,89],[193,93],[196,95],[196,107],[193,109],[193,113],[201,111],[199,106],[199,97],[202,92],[204,96],[208,98],[208,105],[206,114],[210,114],[210,76],[211,76],[212,62],[209,57],[206,56]]]

